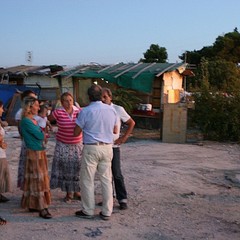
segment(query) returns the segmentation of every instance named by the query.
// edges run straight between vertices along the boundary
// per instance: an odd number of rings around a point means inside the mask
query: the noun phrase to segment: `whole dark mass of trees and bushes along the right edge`
[[[198,126],[207,139],[240,141],[238,30],[217,37],[213,46],[187,52],[187,62],[196,64],[195,77],[188,82],[195,91],[191,125]]]

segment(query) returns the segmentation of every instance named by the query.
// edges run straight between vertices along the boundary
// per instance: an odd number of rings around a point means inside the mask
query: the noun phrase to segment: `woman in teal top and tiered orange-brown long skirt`
[[[40,217],[49,219],[52,215],[48,211],[51,203],[48,160],[43,146],[45,134],[34,119],[38,110],[39,102],[36,98],[24,98],[20,128],[27,150],[21,205],[22,208],[28,208],[30,212],[38,211]]]

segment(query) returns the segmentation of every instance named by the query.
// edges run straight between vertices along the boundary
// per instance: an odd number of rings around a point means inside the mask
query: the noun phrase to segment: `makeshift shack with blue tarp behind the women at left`
[[[19,92],[31,89],[40,100],[57,102],[60,96],[60,88],[57,79],[52,74],[62,71],[63,67],[50,66],[14,66],[0,68],[0,99],[4,102],[3,119],[10,125],[15,125],[14,116],[20,108]]]

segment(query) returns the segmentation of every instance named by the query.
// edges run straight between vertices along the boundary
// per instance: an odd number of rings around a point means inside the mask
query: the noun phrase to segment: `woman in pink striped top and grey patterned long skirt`
[[[56,146],[53,156],[50,186],[51,189],[61,188],[66,192],[64,201],[81,200],[80,166],[82,156],[82,134],[74,137],[77,114],[80,108],[74,106],[71,93],[61,95],[61,107],[56,108],[49,120],[56,120]]]

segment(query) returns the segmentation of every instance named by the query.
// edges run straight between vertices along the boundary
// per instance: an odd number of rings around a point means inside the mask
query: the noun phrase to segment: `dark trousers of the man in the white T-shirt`
[[[112,174],[118,202],[127,202],[127,191],[121,171],[120,148],[113,148]]]

